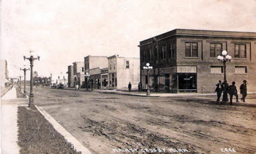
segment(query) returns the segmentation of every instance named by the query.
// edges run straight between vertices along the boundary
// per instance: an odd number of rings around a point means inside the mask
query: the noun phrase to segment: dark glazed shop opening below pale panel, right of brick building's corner
[[[196,73],[178,73],[178,91],[180,93],[196,92]]]

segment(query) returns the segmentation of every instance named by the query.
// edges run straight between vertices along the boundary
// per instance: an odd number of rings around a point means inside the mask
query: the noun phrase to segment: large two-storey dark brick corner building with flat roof
[[[243,79],[248,91],[256,92],[256,33],[214,30],[174,29],[139,42],[141,81],[149,88],[170,93],[213,93],[214,85],[223,81],[223,64],[217,56],[223,50],[232,57],[226,66],[228,83]]]

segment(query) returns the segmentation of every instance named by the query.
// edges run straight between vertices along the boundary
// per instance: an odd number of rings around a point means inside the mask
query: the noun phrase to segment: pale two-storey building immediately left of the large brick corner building
[[[108,57],[108,89],[127,90],[129,82],[132,89],[138,88],[139,58]]]

